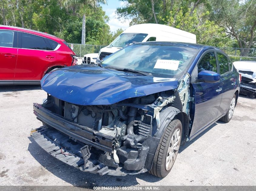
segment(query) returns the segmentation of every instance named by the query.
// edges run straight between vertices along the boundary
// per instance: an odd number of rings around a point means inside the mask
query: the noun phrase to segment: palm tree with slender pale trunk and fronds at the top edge
[[[89,5],[91,8],[96,10],[98,8],[98,4],[106,4],[106,0],[64,0],[65,7],[74,7],[76,5],[83,5],[83,25],[82,25],[82,40],[81,44],[85,44],[85,10],[86,5]]]

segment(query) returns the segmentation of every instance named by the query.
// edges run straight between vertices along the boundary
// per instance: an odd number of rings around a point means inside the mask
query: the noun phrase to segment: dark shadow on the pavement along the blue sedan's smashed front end
[[[161,180],[161,178],[155,177],[148,172],[137,175],[126,175],[124,177],[110,175],[100,176],[82,172],[52,157],[44,151],[32,137],[28,137],[28,139],[31,141],[28,145],[28,151],[35,160],[46,170],[73,186],[135,186],[138,185],[136,178],[146,182],[157,182]]]

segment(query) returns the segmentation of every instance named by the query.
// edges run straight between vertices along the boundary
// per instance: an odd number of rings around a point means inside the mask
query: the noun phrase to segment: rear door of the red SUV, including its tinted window
[[[29,80],[38,82],[44,71],[56,61],[56,53],[49,50],[49,42],[44,37],[18,32],[18,59],[14,83]]]

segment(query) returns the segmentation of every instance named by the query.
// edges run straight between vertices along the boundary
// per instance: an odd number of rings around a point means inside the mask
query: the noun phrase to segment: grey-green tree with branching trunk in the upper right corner
[[[222,27],[225,33],[235,39],[240,48],[251,48],[256,43],[256,1],[255,0],[211,0],[211,19]],[[246,56],[243,50],[240,56]]]

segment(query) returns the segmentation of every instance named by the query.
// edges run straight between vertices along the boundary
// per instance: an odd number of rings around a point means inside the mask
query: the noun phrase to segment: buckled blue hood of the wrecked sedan
[[[44,91],[78,105],[108,105],[178,87],[175,78],[155,78],[132,72],[78,65],[60,68],[41,80]]]

